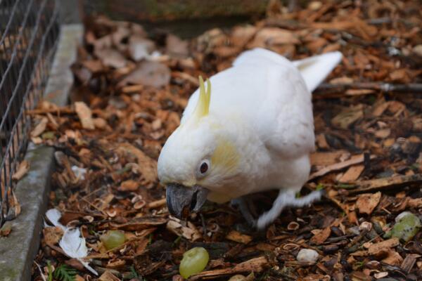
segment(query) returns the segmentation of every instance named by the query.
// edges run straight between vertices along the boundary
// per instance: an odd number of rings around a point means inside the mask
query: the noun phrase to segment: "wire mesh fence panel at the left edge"
[[[0,0],[0,224],[15,217],[13,174],[28,143],[58,39],[56,0]]]

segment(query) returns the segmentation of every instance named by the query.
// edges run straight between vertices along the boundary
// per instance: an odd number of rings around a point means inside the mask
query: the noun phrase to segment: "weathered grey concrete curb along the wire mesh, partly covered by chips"
[[[83,26],[62,25],[56,55],[51,66],[44,99],[63,106],[68,103],[73,75],[70,65],[75,62],[77,44],[82,41]],[[15,187],[22,212],[11,224],[12,232],[0,238],[0,280],[31,280],[31,268],[39,249],[43,216],[47,207],[54,149],[44,145],[27,148],[25,159],[30,171]]]

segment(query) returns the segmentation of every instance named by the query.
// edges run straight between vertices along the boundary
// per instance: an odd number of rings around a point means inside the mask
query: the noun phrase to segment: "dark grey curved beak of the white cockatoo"
[[[170,214],[185,219],[191,211],[199,211],[207,200],[209,190],[200,185],[187,188],[184,185],[170,183],[166,188],[167,207]]]

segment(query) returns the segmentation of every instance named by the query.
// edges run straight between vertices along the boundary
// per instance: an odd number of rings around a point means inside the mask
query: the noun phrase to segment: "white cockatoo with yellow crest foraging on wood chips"
[[[207,80],[206,90],[200,78],[158,159],[170,213],[184,218],[206,200],[232,201],[262,229],[285,207],[319,200],[316,191],[295,194],[307,182],[314,150],[311,92],[341,58],[333,52],[290,62],[255,48]],[[245,195],[273,189],[273,206],[255,219]]]

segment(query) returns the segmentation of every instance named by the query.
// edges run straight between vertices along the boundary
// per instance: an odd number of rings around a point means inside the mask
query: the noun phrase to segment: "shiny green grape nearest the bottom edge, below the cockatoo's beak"
[[[207,266],[210,255],[203,247],[195,247],[186,251],[181,259],[179,272],[185,279],[189,276],[200,273]]]

